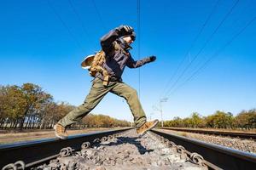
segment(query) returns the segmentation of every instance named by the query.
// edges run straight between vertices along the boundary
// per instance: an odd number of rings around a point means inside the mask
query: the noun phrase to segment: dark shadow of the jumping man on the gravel
[[[137,147],[137,150],[140,152],[141,155],[144,155],[146,152],[151,152],[154,150],[147,150],[141,142],[137,141],[139,139],[138,137],[136,138],[129,138],[129,137],[118,137],[117,142],[110,142],[109,144],[101,144],[101,145],[119,145],[119,144],[134,144]]]

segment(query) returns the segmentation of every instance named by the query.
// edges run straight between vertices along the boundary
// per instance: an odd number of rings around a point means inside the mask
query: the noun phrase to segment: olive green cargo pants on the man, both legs
[[[88,113],[90,113],[90,111],[99,104],[103,97],[108,94],[108,92],[125,98],[126,102],[130,106],[136,127],[141,127],[143,123],[146,122],[143,107],[137,97],[137,91],[134,88],[131,88],[124,82],[111,81],[108,83],[108,86],[104,86],[102,80],[96,78],[92,83],[90,93],[84,100],[84,104],[79,105],[79,107],[75,108],[73,111],[70,111],[67,116],[63,117],[58,123],[63,127],[67,127],[74,122],[78,122]]]

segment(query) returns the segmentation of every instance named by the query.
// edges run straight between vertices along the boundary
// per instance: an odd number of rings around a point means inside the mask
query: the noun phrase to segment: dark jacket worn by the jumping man
[[[108,34],[101,38],[102,50],[106,54],[106,63],[102,65],[108,71],[112,80],[121,81],[122,74],[127,65],[129,68],[137,68],[150,62],[149,57],[135,61],[129,52],[131,48],[121,37],[124,33],[120,28],[109,31]],[[119,45],[119,48],[116,48]],[[96,77],[102,79],[102,75],[97,73]]]

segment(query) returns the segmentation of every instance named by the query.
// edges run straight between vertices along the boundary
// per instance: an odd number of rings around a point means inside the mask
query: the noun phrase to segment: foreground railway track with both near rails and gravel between
[[[1,145],[0,156],[0,167],[4,170],[86,169],[86,166],[102,170],[256,167],[256,155],[187,139],[158,128],[141,139],[137,138],[134,129],[126,128],[76,135],[67,140],[44,139]]]

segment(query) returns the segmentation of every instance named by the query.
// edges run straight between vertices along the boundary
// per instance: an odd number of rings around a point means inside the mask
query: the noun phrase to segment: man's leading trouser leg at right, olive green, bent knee
[[[124,82],[117,82],[110,92],[126,99],[134,117],[136,127],[141,127],[146,122],[147,118],[145,112],[138,99],[137,91],[134,88],[131,88]]]

